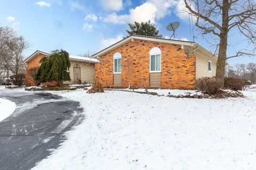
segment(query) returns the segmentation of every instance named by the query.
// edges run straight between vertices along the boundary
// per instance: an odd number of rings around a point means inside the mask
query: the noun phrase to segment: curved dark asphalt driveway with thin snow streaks
[[[0,169],[30,169],[65,140],[64,132],[83,120],[79,103],[50,93],[0,90],[17,105],[0,122]]]

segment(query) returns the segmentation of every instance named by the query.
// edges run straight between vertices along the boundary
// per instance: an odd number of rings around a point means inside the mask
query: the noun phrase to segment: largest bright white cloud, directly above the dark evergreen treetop
[[[129,14],[117,15],[112,13],[107,15],[103,21],[114,24],[126,24],[128,22],[145,22],[150,20],[155,23],[170,14],[170,8],[178,4],[177,0],[148,0],[140,6],[131,8]]]

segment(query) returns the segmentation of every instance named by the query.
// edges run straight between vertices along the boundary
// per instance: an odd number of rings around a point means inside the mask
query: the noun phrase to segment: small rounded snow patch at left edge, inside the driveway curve
[[[16,105],[10,100],[0,98],[0,122],[15,111]]]

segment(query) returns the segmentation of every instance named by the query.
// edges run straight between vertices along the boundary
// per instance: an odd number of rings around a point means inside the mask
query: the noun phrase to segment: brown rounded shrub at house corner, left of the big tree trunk
[[[220,89],[222,88],[222,86],[222,81],[215,77],[205,77],[196,80],[196,88],[209,95],[214,95],[221,92]]]

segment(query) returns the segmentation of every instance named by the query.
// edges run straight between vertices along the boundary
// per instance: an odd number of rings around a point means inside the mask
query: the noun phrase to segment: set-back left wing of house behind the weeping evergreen
[[[39,61],[45,57],[49,56],[49,53],[41,52],[36,50],[35,53],[30,55],[23,63],[27,64],[26,69],[26,86],[35,86],[36,84],[33,81],[33,78],[29,74],[29,69],[33,67],[39,67]],[[74,56],[69,55],[70,60],[70,79],[69,84],[81,84],[83,82],[94,82],[94,65],[99,61],[94,58],[89,57],[81,57],[81,56]],[[45,84],[48,85],[57,85],[57,82],[47,82]]]

